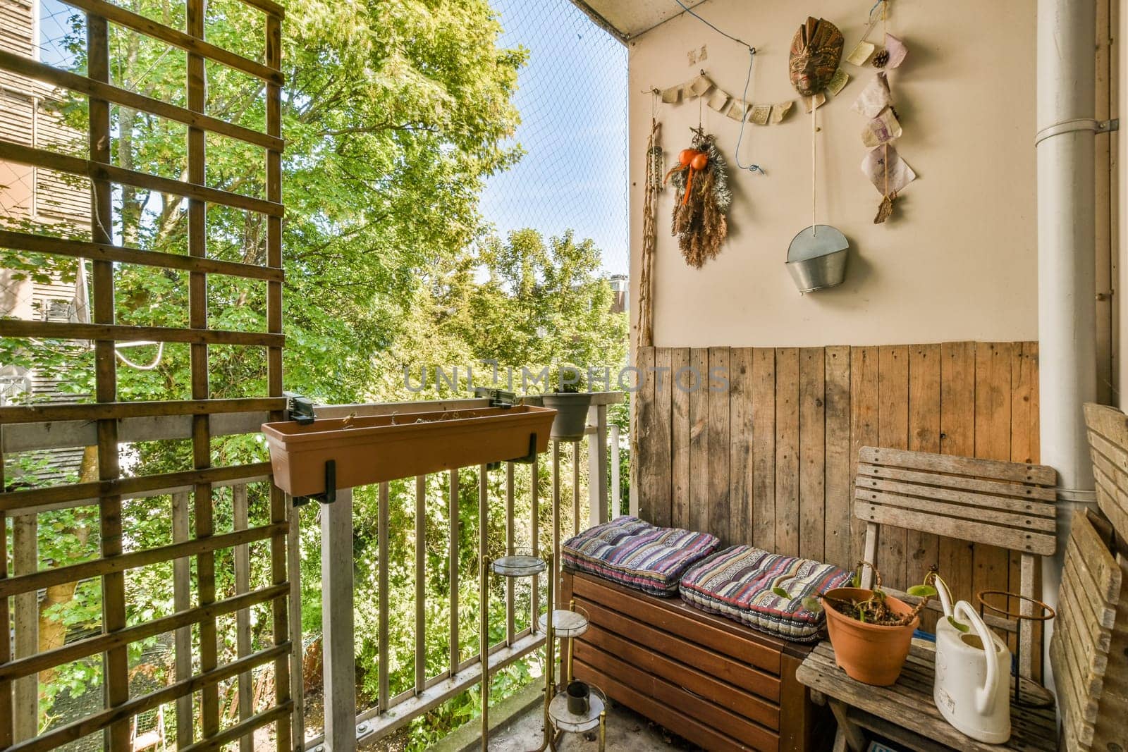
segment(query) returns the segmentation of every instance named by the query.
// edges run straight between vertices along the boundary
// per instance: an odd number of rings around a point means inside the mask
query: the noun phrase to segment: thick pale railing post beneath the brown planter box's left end
[[[321,505],[321,645],[325,745],[356,749],[356,667],[353,655],[352,488]],[[380,614],[381,619],[387,618]]]

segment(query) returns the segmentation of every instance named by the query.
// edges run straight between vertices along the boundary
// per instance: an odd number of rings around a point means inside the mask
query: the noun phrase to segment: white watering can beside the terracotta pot
[[[948,599],[942,595],[941,601],[946,613]],[[980,742],[1002,744],[1011,738],[1011,652],[967,601],[958,602],[948,616],[970,623],[973,632],[960,631],[949,619],[936,623],[933,700],[944,719],[960,732]]]

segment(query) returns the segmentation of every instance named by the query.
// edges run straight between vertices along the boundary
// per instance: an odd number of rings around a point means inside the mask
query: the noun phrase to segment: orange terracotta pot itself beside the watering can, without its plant
[[[825,598],[862,601],[871,593],[872,591],[861,587],[838,587],[828,591]],[[885,595],[885,604],[895,613],[907,614],[913,611],[908,603],[891,595]],[[830,644],[835,648],[835,660],[846,671],[846,675],[876,687],[895,683],[909,655],[913,630],[920,623],[920,618],[915,617],[911,623],[904,627],[882,627],[852,619],[827,601],[823,601],[823,610]]]

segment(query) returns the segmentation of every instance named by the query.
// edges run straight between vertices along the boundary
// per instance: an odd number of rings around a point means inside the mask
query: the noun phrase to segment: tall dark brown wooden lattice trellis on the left
[[[46,750],[103,731],[105,746],[109,750],[129,750],[130,719],[160,705],[176,701],[187,710],[191,719],[192,695],[201,696],[201,735],[194,738],[191,724],[184,728],[185,716],[178,714],[178,745],[186,749],[217,749],[241,741],[244,749],[253,733],[274,724],[277,749],[290,750],[301,744],[292,733],[291,717],[294,698],[291,697],[290,618],[288,600],[291,585],[287,574],[287,537],[290,531],[287,498],[271,485],[270,523],[247,527],[246,490],[236,490],[236,530],[218,534],[212,522],[213,488],[218,485],[246,484],[261,480],[268,474],[268,465],[255,463],[239,467],[212,467],[211,440],[213,435],[232,433],[218,430],[214,416],[228,421],[239,415],[249,417],[244,426],[254,424],[254,416],[268,414],[279,419],[284,409],[282,397],[282,121],[281,121],[281,24],[283,11],[271,0],[243,0],[265,16],[265,62],[259,63],[204,41],[205,0],[187,0],[187,24],[184,32],[164,26],[104,0],[68,0],[68,5],[86,14],[87,76],[60,70],[35,60],[0,51],[0,69],[36,79],[55,87],[69,89],[89,99],[89,153],[86,159],[0,141],[0,160],[39,167],[89,178],[91,239],[60,240],[26,232],[0,231],[0,245],[7,248],[55,254],[92,260],[91,321],[47,322],[0,319],[0,336],[35,339],[86,339],[95,350],[95,402],[83,405],[10,406],[0,407],[0,431],[14,424],[53,424],[56,432],[71,431],[85,439],[85,425],[96,425],[98,449],[98,481],[68,486],[0,493],[0,522],[5,516],[33,519],[38,512],[60,506],[77,506],[97,499],[100,527],[100,557],[94,560],[49,569],[20,569],[9,576],[7,569],[10,541],[5,537],[0,550],[0,623],[10,620],[9,599],[34,594],[52,584],[71,583],[83,578],[100,578],[103,593],[103,631],[33,655],[12,655],[8,639],[0,640],[0,747],[15,750]],[[186,103],[178,107],[114,86],[109,70],[109,25],[130,29],[186,52]],[[265,85],[265,133],[249,130],[209,116],[205,104],[206,61],[220,63]],[[142,113],[175,121],[187,126],[187,179],[176,180],[146,172],[124,169],[111,163],[111,107],[130,107]],[[265,198],[248,197],[205,185],[205,139],[215,133],[254,144],[264,150],[266,176]],[[114,184],[158,191],[187,200],[188,255],[123,248],[114,244],[113,227]],[[208,258],[205,212],[209,204],[256,212],[266,218],[265,266],[222,262]],[[115,321],[114,264],[144,264],[155,267],[186,271],[188,273],[188,328],[124,326]],[[224,274],[245,280],[265,282],[266,331],[222,331],[208,327],[208,276]],[[118,401],[115,365],[115,343],[169,342],[191,345],[192,398],[175,401],[125,402]],[[240,345],[265,347],[267,352],[267,396],[246,399],[211,399],[208,353],[211,345]],[[177,416],[190,416],[178,418]],[[160,418],[175,422],[191,421],[193,469],[190,471],[123,478],[118,467],[118,442],[127,431],[129,421]],[[0,434],[0,460],[5,443]],[[81,445],[81,444],[79,444]],[[2,462],[0,462],[0,480]],[[0,490],[3,486],[0,485]],[[174,498],[175,542],[144,550],[124,551],[122,529],[123,496],[147,496],[169,493]],[[185,490],[194,498],[195,530],[187,531]],[[241,499],[241,506],[239,501]],[[179,516],[178,512],[179,511]],[[241,523],[241,524],[240,524]],[[127,531],[124,531],[127,532]],[[18,533],[17,533],[18,534]],[[270,541],[271,584],[249,591],[246,580],[247,546],[254,541]],[[237,583],[238,594],[217,600],[215,551],[236,548],[237,567],[241,563],[244,576]],[[178,594],[175,613],[143,623],[126,622],[126,578],[129,569],[173,561],[176,576],[188,575],[190,557],[196,563],[195,605],[186,600],[186,587]],[[237,577],[238,580],[238,577]],[[184,598],[180,598],[184,595]],[[247,613],[253,605],[270,603],[273,618],[272,644],[257,653],[249,652],[249,638],[239,640],[239,657],[220,664],[217,648],[217,619],[236,613],[240,627],[249,630]],[[193,672],[191,656],[183,655],[187,629],[199,627],[200,653]],[[148,695],[131,697],[127,664],[130,643],[156,635],[177,631],[177,674],[175,681]],[[247,632],[249,635],[249,631]],[[17,732],[14,713],[14,685],[39,671],[50,670],[89,656],[103,656],[105,705],[104,708],[73,723],[52,728],[38,736]],[[185,658],[187,660],[185,661]],[[273,664],[274,697],[271,707],[254,714],[249,701],[240,702],[238,723],[221,727],[219,683],[235,676],[248,676],[257,667]],[[34,685],[34,684],[33,684]],[[240,683],[240,695],[246,695]],[[249,697],[249,695],[247,695]],[[34,695],[33,695],[34,698]],[[33,706],[34,708],[34,700]],[[34,717],[34,715],[33,715]],[[294,725],[300,728],[300,723]],[[34,728],[34,724],[32,726]],[[25,724],[26,728],[26,724]]]

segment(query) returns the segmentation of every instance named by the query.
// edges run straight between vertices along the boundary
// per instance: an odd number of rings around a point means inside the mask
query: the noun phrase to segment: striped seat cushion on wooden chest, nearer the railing
[[[564,566],[653,595],[677,595],[686,567],[721,545],[714,536],[622,516],[564,541]]]

